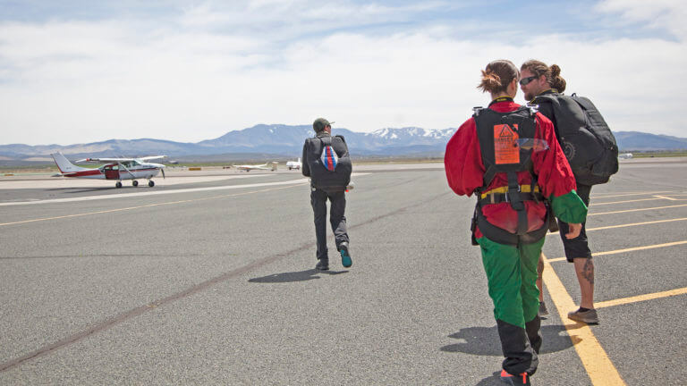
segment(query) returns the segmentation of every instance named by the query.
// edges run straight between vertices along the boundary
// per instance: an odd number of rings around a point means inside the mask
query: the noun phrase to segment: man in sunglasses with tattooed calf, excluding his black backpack
[[[525,95],[525,99],[532,105],[539,105],[539,113],[545,115],[554,123],[556,138],[561,142],[560,132],[556,123],[554,107],[546,98],[538,96],[558,95],[565,91],[565,80],[560,76],[561,69],[556,64],[547,66],[546,63],[537,60],[530,60],[522,63],[520,88]],[[563,147],[564,144],[561,144]],[[591,186],[577,182],[576,192],[581,197],[584,204],[589,206],[589,193]],[[565,250],[565,257],[569,263],[575,266],[577,281],[580,283],[581,302],[580,308],[568,313],[568,318],[583,323],[598,323],[597,310],[594,309],[594,263],[592,262],[589,242],[585,231],[585,223],[582,222],[580,235],[574,239],[566,239],[564,234],[568,232],[568,223],[558,220],[561,239]],[[539,297],[541,300],[541,272],[544,269],[543,255],[539,261]],[[541,305],[544,303],[542,302]],[[546,312],[546,306],[540,308],[540,315]]]

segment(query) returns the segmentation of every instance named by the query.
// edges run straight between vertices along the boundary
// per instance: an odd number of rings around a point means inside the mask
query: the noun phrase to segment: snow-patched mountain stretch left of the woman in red
[[[343,135],[352,155],[441,155],[454,129],[427,130],[421,128],[386,128],[361,133],[335,128],[335,135]],[[69,146],[1,145],[0,160],[45,158],[61,151],[65,155],[114,156],[165,154],[218,155],[227,153],[298,155],[303,141],[315,135],[311,125],[259,124],[248,129],[233,130],[215,139],[197,143],[182,143],[163,139],[110,139],[103,142]]]

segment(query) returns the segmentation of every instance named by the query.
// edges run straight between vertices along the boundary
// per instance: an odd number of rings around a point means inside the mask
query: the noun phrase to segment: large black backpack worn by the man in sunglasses
[[[556,135],[570,163],[575,180],[582,185],[608,182],[618,172],[618,146],[597,107],[584,96],[544,94],[534,104],[550,103]]]

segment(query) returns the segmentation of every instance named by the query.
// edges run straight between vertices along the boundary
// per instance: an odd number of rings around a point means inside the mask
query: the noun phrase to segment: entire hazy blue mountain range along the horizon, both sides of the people
[[[446,142],[455,130],[405,127],[361,133],[335,128],[334,134],[344,136],[352,156],[437,157],[443,155]],[[639,131],[616,131],[614,134],[621,152],[687,149],[687,138]],[[222,137],[197,143],[140,138],[109,139],[68,146],[0,145],[0,163],[52,161],[49,155],[57,151],[70,158],[157,154],[180,159],[249,159],[256,155],[293,158],[301,155],[303,140],[313,135],[310,125],[259,124],[244,130],[229,131]]]

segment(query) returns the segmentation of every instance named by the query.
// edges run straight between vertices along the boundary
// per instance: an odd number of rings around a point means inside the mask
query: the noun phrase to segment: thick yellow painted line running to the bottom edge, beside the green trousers
[[[589,325],[573,322],[568,319],[568,311],[572,311],[577,307],[551,264],[547,262],[544,262],[544,264],[547,265],[547,269],[543,273],[544,284],[547,286],[551,299],[554,301],[558,315],[561,316],[565,330],[570,335],[570,340],[573,340],[573,346],[589,375],[592,385],[626,386],[620,373],[618,373],[615,365],[608,358],[606,350],[601,347]]]

